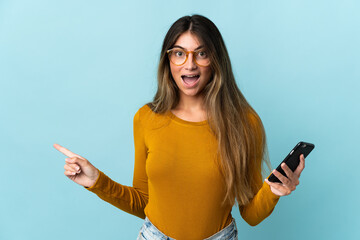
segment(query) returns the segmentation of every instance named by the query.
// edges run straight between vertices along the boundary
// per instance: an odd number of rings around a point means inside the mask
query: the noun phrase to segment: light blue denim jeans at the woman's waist
[[[237,240],[238,233],[235,219],[233,218],[229,226],[215,233],[204,240]],[[175,240],[160,232],[146,217],[145,222],[140,229],[137,240]]]

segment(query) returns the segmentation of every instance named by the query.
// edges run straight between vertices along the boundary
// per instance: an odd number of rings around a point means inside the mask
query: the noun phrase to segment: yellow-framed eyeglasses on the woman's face
[[[172,48],[166,52],[169,55],[170,61],[176,66],[183,65],[187,61],[190,53],[192,53],[193,60],[196,65],[200,67],[207,67],[210,65],[210,58],[206,51],[202,49],[196,51],[185,51],[181,48]]]

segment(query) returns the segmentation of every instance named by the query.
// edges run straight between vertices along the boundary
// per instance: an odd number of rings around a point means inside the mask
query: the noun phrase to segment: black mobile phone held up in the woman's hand
[[[291,171],[294,172],[296,167],[300,163],[300,155],[304,154],[304,157],[306,158],[307,155],[309,155],[309,153],[314,149],[314,147],[315,147],[315,145],[312,143],[299,142],[290,151],[290,153],[286,156],[286,158],[279,164],[279,166],[276,168],[276,170],[278,172],[280,172],[282,175],[284,175],[285,177],[287,177],[284,170],[281,168],[281,164],[285,163],[291,169]],[[281,181],[273,173],[269,176],[268,180],[270,182],[281,183]]]

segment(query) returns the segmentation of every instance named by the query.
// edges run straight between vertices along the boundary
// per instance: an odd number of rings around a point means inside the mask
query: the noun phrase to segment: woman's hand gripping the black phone
[[[300,174],[305,168],[304,154],[300,155],[300,163],[294,172],[291,171],[291,169],[285,163],[281,164],[281,168],[284,170],[287,177],[282,175],[276,169],[272,171],[272,173],[281,181],[281,183],[270,182],[268,179],[265,179],[265,182],[269,184],[271,191],[275,195],[286,196],[289,195],[292,191],[294,191],[296,189],[296,186],[300,183]]]

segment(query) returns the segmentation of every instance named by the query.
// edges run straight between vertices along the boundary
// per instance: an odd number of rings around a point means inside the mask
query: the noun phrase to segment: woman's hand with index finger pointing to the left
[[[65,176],[84,187],[91,187],[95,184],[99,176],[99,170],[94,167],[87,159],[77,155],[70,150],[60,146],[53,145],[56,150],[63,153],[68,158],[65,159]]]

